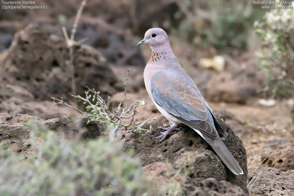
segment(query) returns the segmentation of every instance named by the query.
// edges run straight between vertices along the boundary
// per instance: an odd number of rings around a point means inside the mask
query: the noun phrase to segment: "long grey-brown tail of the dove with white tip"
[[[220,137],[214,139],[209,137],[206,134],[201,133],[199,130],[194,129],[202,138],[204,138],[212,149],[216,152],[220,160],[233,172],[235,175],[243,174],[243,170],[240,165],[237,163],[233,155],[230,153],[228,148],[223,143]]]

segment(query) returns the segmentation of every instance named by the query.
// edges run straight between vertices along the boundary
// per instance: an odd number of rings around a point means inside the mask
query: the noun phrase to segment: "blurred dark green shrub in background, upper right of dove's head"
[[[232,48],[247,49],[248,35],[263,10],[248,1],[235,0],[183,0],[177,1],[180,19],[178,27],[168,22],[165,28],[196,46],[214,46],[223,51]]]

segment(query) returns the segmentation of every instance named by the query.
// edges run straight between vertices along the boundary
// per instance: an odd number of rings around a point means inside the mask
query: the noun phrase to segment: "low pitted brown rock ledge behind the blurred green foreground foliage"
[[[82,134],[82,138],[97,138],[100,135],[97,123],[87,123],[88,117],[75,122],[64,123],[59,118],[43,120],[27,114],[12,116],[7,113],[0,113],[0,142],[4,146],[14,145],[16,152],[23,153],[26,151],[31,147],[28,141],[31,131],[31,128],[27,126],[29,122],[41,130],[53,130],[62,133],[64,136],[71,136],[77,132]]]

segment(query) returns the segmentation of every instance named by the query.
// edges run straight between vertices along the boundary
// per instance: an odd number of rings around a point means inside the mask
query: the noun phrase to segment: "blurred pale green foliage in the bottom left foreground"
[[[0,195],[141,195],[141,164],[118,143],[44,136],[36,153],[17,156],[0,143]]]

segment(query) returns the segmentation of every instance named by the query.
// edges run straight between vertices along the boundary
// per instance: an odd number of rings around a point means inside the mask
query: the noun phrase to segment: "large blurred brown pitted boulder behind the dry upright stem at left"
[[[106,59],[90,46],[73,46],[73,74],[65,39],[48,29],[42,23],[32,23],[15,34],[1,65],[3,82],[21,86],[39,100],[69,97],[72,75],[80,95],[86,86],[101,91],[103,98],[122,90]]]

